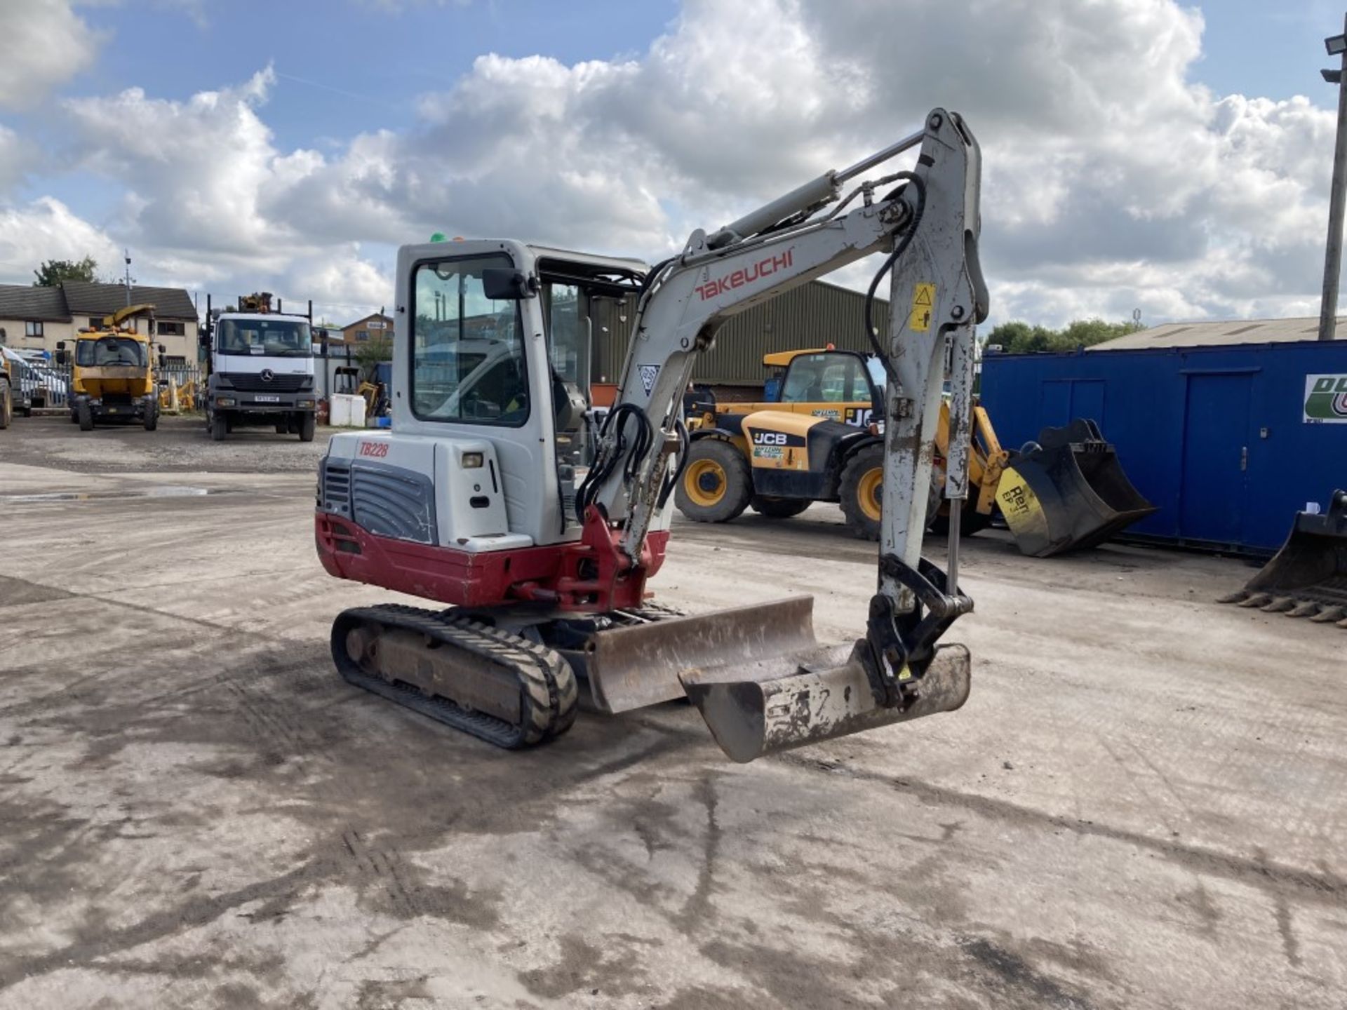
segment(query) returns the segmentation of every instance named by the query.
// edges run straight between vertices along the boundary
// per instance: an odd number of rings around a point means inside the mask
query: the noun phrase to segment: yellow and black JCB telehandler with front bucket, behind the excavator
[[[750,505],[764,516],[796,516],[836,501],[857,536],[880,535],[884,473],[884,366],[853,350],[768,354],[772,372],[758,403],[698,401],[688,411],[692,448],[675,493],[698,523],[726,523]],[[1021,552],[1047,558],[1088,547],[1154,509],[1127,482],[1117,452],[1092,422],[1044,428],[1021,451],[1001,447],[986,409],[967,419],[968,508],[960,532],[985,529],[999,509]],[[940,500],[950,451],[950,404],[940,407],[932,446],[931,529],[947,533]]]

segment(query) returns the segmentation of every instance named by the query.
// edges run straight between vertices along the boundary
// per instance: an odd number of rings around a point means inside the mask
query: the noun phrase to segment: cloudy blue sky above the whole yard
[[[931,108],[991,322],[1316,315],[1327,0],[0,3],[0,283],[392,300],[434,232],[656,260]],[[863,285],[876,264],[834,279]]]

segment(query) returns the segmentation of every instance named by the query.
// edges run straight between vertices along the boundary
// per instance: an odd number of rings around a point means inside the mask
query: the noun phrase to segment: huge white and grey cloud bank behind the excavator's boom
[[[1173,0],[688,0],[638,58],[484,55],[335,151],[277,148],[271,67],[66,109],[119,241],[230,291],[377,307],[389,248],[434,230],[653,259],[946,105],[983,144],[994,318],[1313,311],[1334,116],[1195,83],[1202,31]]]

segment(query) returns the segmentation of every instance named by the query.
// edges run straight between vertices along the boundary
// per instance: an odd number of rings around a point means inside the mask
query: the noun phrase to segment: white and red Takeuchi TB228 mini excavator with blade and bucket
[[[869,178],[917,149],[912,170]],[[392,430],[333,436],[315,540],[329,572],[439,603],[348,610],[350,683],[502,747],[563,734],[583,691],[621,712],[688,698],[735,761],[950,711],[970,656],[942,641],[959,590],[978,265],[979,152],[962,119],[830,171],[647,268],[509,240],[397,257]],[[877,590],[854,642],[820,645],[812,598],[683,615],[652,602],[688,458],[682,397],[735,312],[872,253],[866,330],[885,373]],[[872,318],[890,276],[890,337]],[[590,426],[597,299],[636,295],[612,409]],[[947,571],[920,556],[948,381]],[[858,615],[858,624],[861,617]]]

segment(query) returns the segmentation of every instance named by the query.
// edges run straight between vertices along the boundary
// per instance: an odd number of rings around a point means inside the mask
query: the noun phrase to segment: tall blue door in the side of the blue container
[[[1179,536],[1243,543],[1253,376],[1188,376]]]

